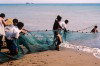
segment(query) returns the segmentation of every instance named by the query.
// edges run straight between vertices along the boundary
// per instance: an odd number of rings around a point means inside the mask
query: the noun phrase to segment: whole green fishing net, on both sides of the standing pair
[[[19,39],[16,40],[18,47],[18,54],[15,56],[10,56],[7,52],[0,52],[0,62],[6,62],[9,60],[16,60],[23,57],[28,52],[41,52],[46,50],[55,49],[54,32],[48,31],[33,31],[26,34],[21,34]],[[99,41],[99,33],[81,33],[75,31],[61,31],[63,42],[69,42],[72,44],[88,44]],[[98,37],[98,38],[97,38]],[[97,40],[98,39],[98,40]]]

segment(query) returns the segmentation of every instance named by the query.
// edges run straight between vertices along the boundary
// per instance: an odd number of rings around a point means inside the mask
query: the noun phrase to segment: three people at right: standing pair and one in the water
[[[65,21],[61,21],[62,17],[60,15],[57,16],[57,18],[55,19],[54,25],[53,25],[53,32],[54,32],[54,41],[56,41],[55,45],[56,45],[56,50],[59,51],[59,45],[63,42],[63,40],[66,39],[66,32],[68,31],[66,28],[67,24],[68,24],[68,20],[66,19]],[[94,26],[94,28],[91,30],[91,33],[98,33],[97,30],[98,26]],[[61,34],[61,31],[63,31],[63,33],[65,33],[64,37]],[[62,39],[62,37],[64,39]],[[65,40],[66,41],[66,40]]]

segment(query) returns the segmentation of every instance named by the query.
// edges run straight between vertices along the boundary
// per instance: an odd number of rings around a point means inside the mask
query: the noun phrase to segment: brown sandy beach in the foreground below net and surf
[[[0,66],[100,66],[100,59],[79,50],[61,48],[27,54],[19,60],[0,64]]]

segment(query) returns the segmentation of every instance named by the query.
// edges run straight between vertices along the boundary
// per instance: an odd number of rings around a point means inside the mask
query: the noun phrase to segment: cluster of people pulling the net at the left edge
[[[20,33],[25,31],[23,30],[24,23],[19,22],[18,19],[4,19],[5,14],[0,14],[0,51],[3,45],[3,38],[9,49],[9,54],[16,55],[18,53],[18,47],[16,44],[17,39],[20,36]]]

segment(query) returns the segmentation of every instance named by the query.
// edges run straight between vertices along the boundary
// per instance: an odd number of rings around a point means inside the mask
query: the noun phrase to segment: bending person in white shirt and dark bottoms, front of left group
[[[5,27],[6,30],[6,43],[7,48],[10,51],[10,55],[17,55],[18,54],[18,44],[17,40],[19,38],[19,33],[21,32],[21,29],[23,28],[24,24],[22,22],[18,22],[16,26],[7,26]]]

